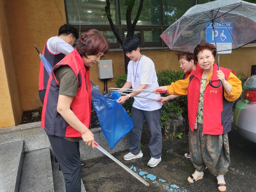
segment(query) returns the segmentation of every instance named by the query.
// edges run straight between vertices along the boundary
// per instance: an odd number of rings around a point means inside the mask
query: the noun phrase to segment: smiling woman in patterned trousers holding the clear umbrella
[[[231,130],[232,105],[242,92],[241,81],[232,70],[214,63],[215,46],[200,43],[194,50],[201,69],[193,70],[187,79],[156,89],[168,90],[169,94],[188,95],[189,152],[196,168],[188,177],[193,183],[204,176],[204,169],[217,177],[218,189],[226,190],[224,174],[230,164],[228,134]],[[219,80],[221,85],[213,88]],[[157,92],[158,93],[158,92]]]

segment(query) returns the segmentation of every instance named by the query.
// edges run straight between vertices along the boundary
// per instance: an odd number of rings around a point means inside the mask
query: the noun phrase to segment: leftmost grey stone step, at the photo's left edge
[[[23,140],[0,144],[0,191],[18,192],[24,158]]]

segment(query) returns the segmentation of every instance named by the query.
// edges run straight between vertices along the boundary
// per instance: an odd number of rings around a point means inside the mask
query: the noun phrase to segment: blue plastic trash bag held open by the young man
[[[114,148],[117,142],[130,132],[133,122],[122,104],[116,102],[120,97],[118,92],[102,95],[99,86],[92,88],[92,103],[97,113],[101,130],[104,133],[110,149]]]

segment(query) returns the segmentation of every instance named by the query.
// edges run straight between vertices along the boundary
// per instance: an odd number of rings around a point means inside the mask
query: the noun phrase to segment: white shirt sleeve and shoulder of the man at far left
[[[48,39],[47,48],[52,54],[55,55],[60,53],[67,55],[74,50],[74,48],[70,44],[68,44],[58,36]]]

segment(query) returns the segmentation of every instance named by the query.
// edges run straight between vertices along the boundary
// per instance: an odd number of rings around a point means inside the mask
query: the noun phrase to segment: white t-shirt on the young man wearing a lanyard
[[[139,62],[139,63],[138,63]],[[138,68],[137,68],[138,65]],[[137,70],[137,72],[136,72]],[[136,77],[135,77],[136,74]],[[135,80],[135,85],[134,85]],[[143,55],[140,61],[130,61],[128,64],[127,81],[132,83],[132,89],[138,88],[141,84],[147,84],[146,89],[154,90],[159,87],[157,83],[157,76],[155,65],[151,59]],[[147,97],[152,99],[160,99],[160,94],[141,92],[141,97]],[[162,107],[162,103],[151,99],[142,99],[134,97],[132,107],[141,109],[144,111],[154,111]]]

